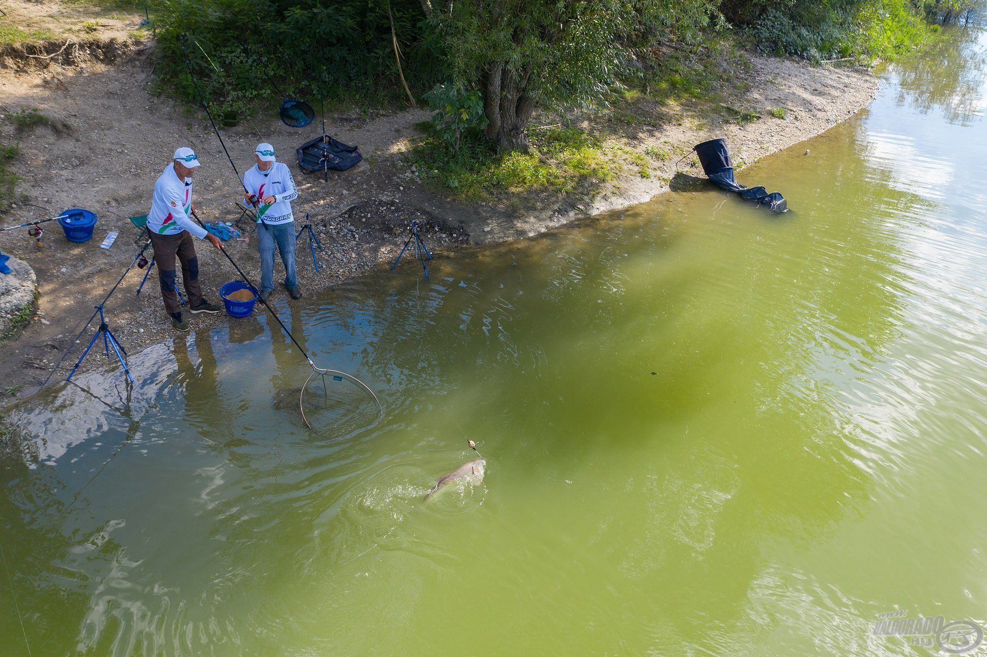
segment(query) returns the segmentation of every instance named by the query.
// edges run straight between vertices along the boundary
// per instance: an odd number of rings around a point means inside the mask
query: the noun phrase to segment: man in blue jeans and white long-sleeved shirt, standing
[[[288,166],[274,159],[274,147],[258,144],[257,165],[244,174],[244,202],[257,212],[257,247],[261,252],[261,298],[274,291],[274,249],[284,263],[284,287],[292,299],[300,299],[295,272],[295,218],[291,201],[298,198]]]

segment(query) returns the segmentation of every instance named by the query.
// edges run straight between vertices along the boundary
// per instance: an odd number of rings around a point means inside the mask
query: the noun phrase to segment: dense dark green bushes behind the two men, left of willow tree
[[[440,58],[416,0],[392,0],[412,91],[442,78]],[[279,91],[331,108],[395,106],[402,90],[387,4],[376,0],[170,0],[152,3],[159,70],[197,101],[183,53],[209,101],[223,110],[276,104]],[[267,80],[269,76],[274,84]]]

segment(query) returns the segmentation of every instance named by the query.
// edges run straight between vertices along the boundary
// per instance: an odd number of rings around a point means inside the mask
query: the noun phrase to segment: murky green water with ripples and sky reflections
[[[123,412],[54,391],[0,470],[34,654],[909,655],[878,613],[983,620],[984,57],[740,172],[788,215],[668,194],[287,313],[379,418],[334,384],[305,429],[263,316],[133,358],[126,407],[79,379]],[[463,432],[486,480],[420,503]]]

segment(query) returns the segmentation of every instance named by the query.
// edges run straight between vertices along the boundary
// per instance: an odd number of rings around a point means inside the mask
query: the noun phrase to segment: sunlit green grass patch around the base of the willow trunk
[[[428,136],[410,158],[418,175],[432,186],[465,201],[490,199],[496,192],[550,189],[560,193],[576,183],[602,183],[619,172],[596,135],[576,128],[552,127],[530,134],[531,153],[499,154],[482,135],[463,139],[450,155],[441,141]]]

